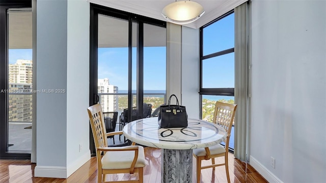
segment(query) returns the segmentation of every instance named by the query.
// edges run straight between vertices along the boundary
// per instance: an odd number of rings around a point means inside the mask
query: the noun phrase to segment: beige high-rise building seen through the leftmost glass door
[[[10,122],[32,122],[32,70],[31,60],[17,60],[9,64]]]

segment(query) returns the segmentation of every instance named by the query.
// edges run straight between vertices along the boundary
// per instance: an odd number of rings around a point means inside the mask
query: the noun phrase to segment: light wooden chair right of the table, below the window
[[[226,177],[227,177],[228,182],[230,183],[229,165],[228,165],[228,152],[229,152],[228,149],[229,149],[229,140],[230,140],[231,128],[233,125],[236,107],[237,107],[236,104],[223,103],[223,102],[216,101],[213,122],[221,125],[226,130],[227,138],[224,141],[225,146],[223,146],[221,144],[216,144],[214,146],[193,150],[193,155],[197,159],[197,171],[196,171],[197,172],[197,183],[200,182],[200,174],[201,174],[202,169],[213,168],[213,170],[215,170],[215,167],[223,166],[223,165],[225,165]],[[225,162],[222,164],[215,164],[215,158],[220,157],[220,156],[224,156]],[[201,166],[202,160],[209,160],[209,159],[211,159],[212,165]]]

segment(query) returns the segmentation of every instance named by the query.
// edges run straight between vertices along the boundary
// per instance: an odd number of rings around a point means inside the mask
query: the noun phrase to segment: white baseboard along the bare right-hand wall
[[[264,167],[259,161],[257,161],[253,156],[250,156],[250,163],[257,172],[261,174],[268,182],[283,183],[277,176],[271,173],[266,167]]]

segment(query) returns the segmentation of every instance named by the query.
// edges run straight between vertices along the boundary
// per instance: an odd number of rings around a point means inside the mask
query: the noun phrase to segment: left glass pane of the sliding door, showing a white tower
[[[128,24],[128,20],[98,15],[97,76],[93,80],[97,79],[103,112],[117,111],[118,116],[128,108]]]

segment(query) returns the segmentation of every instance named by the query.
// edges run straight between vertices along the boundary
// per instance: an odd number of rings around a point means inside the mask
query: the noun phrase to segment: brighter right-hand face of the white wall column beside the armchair
[[[90,160],[89,81],[90,5],[68,0],[67,21],[67,176]],[[83,21],[80,21],[80,20]],[[79,151],[80,145],[80,151]]]

